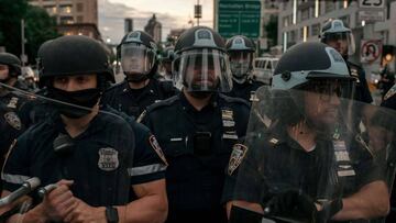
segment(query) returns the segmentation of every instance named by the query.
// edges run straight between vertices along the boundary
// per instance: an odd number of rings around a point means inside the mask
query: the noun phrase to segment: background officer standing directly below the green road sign
[[[251,78],[255,44],[246,36],[237,35],[227,41],[226,48],[230,58],[233,82],[232,90],[227,96],[252,102],[255,90],[263,85]]]

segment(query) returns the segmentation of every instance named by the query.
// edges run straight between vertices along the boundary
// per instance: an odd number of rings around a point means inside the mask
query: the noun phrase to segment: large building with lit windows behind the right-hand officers
[[[362,10],[356,0],[319,1],[319,0],[284,0],[279,2],[278,43],[284,51],[296,43],[319,41],[321,26],[329,19],[340,19],[352,29],[355,37],[356,52],[351,60],[360,62],[362,40],[382,40],[384,45],[396,45],[396,0],[385,3],[384,21],[362,21]],[[380,69],[381,64],[363,64],[366,78]],[[389,62],[395,70],[395,56]]]

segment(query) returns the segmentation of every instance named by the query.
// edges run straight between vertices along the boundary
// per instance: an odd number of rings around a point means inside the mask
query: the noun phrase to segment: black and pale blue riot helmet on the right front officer
[[[277,97],[282,98],[288,94],[289,89],[300,90],[301,94],[294,91],[287,103],[283,100],[283,103],[278,104],[276,99],[274,100],[278,108],[274,115],[283,116],[284,123],[297,124],[304,119],[301,114],[306,113],[306,105],[294,101],[301,101],[302,92],[314,92],[320,96],[322,101],[330,101],[333,96],[351,99],[354,79],[350,76],[344,59],[334,48],[311,42],[297,44],[280,57],[274,71],[272,88],[277,91]]]

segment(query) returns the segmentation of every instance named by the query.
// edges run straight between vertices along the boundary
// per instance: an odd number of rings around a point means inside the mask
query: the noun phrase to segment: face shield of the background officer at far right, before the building
[[[341,55],[353,55],[355,53],[352,32],[324,33],[322,42],[336,48]]]

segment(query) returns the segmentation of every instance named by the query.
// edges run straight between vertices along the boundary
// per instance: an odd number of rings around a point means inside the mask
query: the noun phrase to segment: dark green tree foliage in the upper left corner
[[[25,54],[31,64],[35,63],[37,49],[47,40],[59,36],[56,23],[47,12],[30,5],[26,0],[0,0],[0,46],[20,56],[21,20],[25,21]]]

